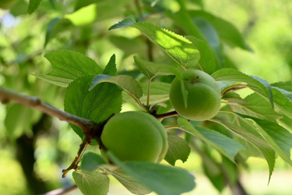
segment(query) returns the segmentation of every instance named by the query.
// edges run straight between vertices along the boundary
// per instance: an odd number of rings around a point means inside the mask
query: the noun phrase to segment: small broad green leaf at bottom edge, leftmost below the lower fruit
[[[109,178],[102,173],[75,171],[72,176],[83,194],[106,195],[108,192]]]

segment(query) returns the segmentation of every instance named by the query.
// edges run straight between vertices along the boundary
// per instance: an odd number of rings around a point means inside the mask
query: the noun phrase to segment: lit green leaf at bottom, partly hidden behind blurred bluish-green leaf
[[[134,180],[131,176],[123,173],[122,171],[113,171],[109,172],[112,176],[114,176],[123,186],[125,186],[131,193],[144,195],[150,193],[152,190],[143,186],[136,180]]]

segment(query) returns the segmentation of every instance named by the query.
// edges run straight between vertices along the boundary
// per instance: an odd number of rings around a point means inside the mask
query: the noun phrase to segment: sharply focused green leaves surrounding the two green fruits
[[[152,95],[156,95],[151,93],[150,89],[155,87],[151,85],[151,81],[159,75],[180,77],[179,69],[181,68],[199,68],[211,74],[216,81],[231,81],[229,85],[222,86],[222,100],[226,106],[221,110],[222,113],[229,115],[230,122],[220,119],[210,119],[210,121],[221,124],[232,134],[226,136],[203,126],[194,126],[192,122],[181,117],[177,118],[177,125],[172,128],[182,129],[189,135],[202,140],[219,151],[226,161],[234,164],[236,164],[234,157],[237,153],[241,156],[263,156],[269,165],[270,176],[275,165],[276,153],[292,166],[290,160],[292,134],[277,124],[277,119],[281,117],[281,114],[274,109],[292,118],[290,82],[270,85],[261,78],[245,75],[235,69],[226,68],[215,71],[214,50],[206,42],[193,36],[176,35],[150,23],[136,22],[133,16],[125,18],[109,29],[125,26],[139,29],[177,62],[177,66],[154,63],[135,56],[134,61],[138,70],[149,81],[148,90],[143,92],[142,87],[133,77],[117,75],[115,55],[102,69],[94,60],[77,52],[57,50],[48,53],[45,57],[52,64],[51,72],[36,76],[66,87],[64,99],[66,112],[97,123],[104,121],[113,113],[121,111],[123,103],[121,92],[124,91],[142,110],[151,112],[158,104],[162,106],[159,107],[158,113],[165,113],[172,109],[169,101],[156,102],[152,105],[149,103]],[[242,99],[240,95],[232,91],[242,87],[248,87],[254,92]],[[143,94],[147,94],[145,104],[141,102]],[[77,126],[71,126],[84,139],[82,130]],[[186,161],[190,152],[188,142],[173,134],[168,134],[168,142],[169,151],[165,160],[172,166],[178,159]],[[107,193],[109,180],[102,174],[104,172],[113,175],[135,194],[146,194],[152,190],[158,194],[180,194],[195,186],[193,176],[184,170],[145,162],[122,163],[112,153],[109,152],[108,156],[124,172],[119,172],[107,165],[98,154],[85,154],[81,169],[73,173],[77,185],[84,194]],[[214,179],[211,175],[209,177]],[[92,191],[89,192],[89,189]]]

